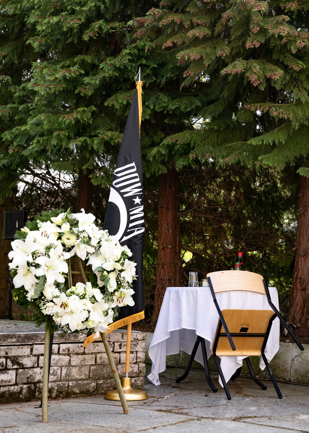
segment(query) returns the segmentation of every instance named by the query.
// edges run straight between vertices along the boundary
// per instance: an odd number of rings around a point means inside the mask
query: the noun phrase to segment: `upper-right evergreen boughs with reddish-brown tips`
[[[203,121],[184,138],[202,161],[306,166],[308,8],[306,1],[162,1],[136,19],[146,50],[186,67],[182,88],[203,88],[196,115]]]

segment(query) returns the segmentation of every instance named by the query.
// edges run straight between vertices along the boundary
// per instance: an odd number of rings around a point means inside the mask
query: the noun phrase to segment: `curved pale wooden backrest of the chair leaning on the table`
[[[231,290],[246,290],[266,294],[263,277],[255,272],[248,271],[216,271],[209,272],[212,287],[215,293]]]

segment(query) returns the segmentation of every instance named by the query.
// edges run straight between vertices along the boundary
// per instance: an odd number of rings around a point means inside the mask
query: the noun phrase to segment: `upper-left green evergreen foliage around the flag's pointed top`
[[[6,175],[6,168],[18,167],[12,180],[16,184],[31,162],[73,174],[82,170],[95,186],[108,185],[139,66],[145,79],[141,131],[145,173],[159,174],[174,161],[177,167],[190,163],[190,142],[176,147],[168,142],[164,152],[159,148],[167,137],[193,128],[192,119],[204,106],[200,89],[180,92],[185,68],[169,53],[145,52],[144,41],[133,40],[135,30],[128,24],[153,6],[158,2],[8,0],[3,4],[7,16],[3,28],[10,20],[20,22],[25,47],[20,58],[26,58],[27,67],[19,58],[24,79],[16,79],[14,86],[11,66],[5,76],[8,96],[0,115],[10,116],[11,123],[1,135],[5,154],[0,176]],[[2,47],[3,65],[18,63],[10,46],[19,43],[19,33],[9,30],[10,39]],[[6,185],[8,191],[11,187]]]

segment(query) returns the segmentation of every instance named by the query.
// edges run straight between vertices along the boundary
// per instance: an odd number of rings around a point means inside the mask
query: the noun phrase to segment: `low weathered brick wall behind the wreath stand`
[[[132,331],[130,370],[132,388],[144,389],[145,333]],[[83,347],[85,335],[55,333],[49,375],[50,398],[76,394],[105,394],[115,389],[102,341]],[[126,330],[108,334],[120,378],[125,373]],[[44,333],[0,332],[0,403],[40,400],[42,395]]]

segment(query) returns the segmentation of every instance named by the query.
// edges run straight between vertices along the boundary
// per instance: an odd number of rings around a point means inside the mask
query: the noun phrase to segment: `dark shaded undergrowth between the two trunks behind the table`
[[[212,162],[203,169],[183,170],[180,179],[183,271],[198,271],[206,278],[208,272],[233,269],[237,251],[242,251],[243,269],[277,287],[286,314],[297,217],[293,177],[285,185],[273,169],[216,169]]]

